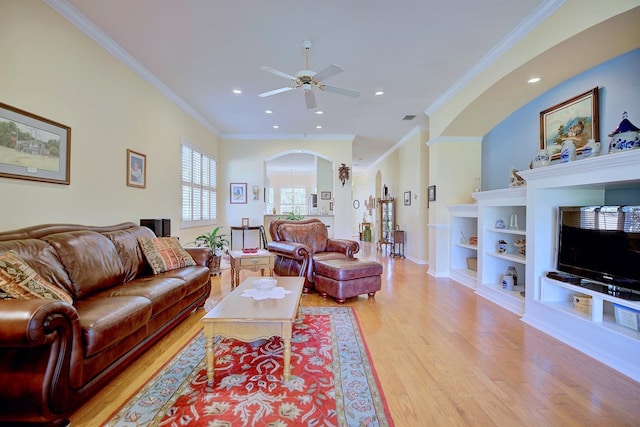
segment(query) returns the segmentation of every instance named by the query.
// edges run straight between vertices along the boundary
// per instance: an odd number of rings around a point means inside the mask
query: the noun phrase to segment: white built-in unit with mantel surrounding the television
[[[618,202],[621,197],[624,202],[625,191],[628,197],[637,195],[640,150],[553,164],[520,175],[527,182],[523,321],[640,381],[640,332],[616,323],[614,314],[614,304],[640,310],[640,302],[546,277],[546,272],[556,270],[558,207],[604,205],[611,190]],[[590,313],[576,309],[574,295],[591,297]]]

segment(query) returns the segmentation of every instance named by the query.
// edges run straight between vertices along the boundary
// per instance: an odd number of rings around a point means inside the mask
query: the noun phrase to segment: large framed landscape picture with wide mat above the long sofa
[[[0,102],[0,176],[70,183],[71,128]]]

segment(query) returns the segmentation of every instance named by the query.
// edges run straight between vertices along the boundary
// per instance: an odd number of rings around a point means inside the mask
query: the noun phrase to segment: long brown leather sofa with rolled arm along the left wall
[[[16,252],[73,304],[0,300],[0,425],[64,425],[136,357],[197,307],[211,290],[211,251],[190,248],[196,265],[154,275],[138,238],[146,227],[39,225],[0,233],[0,254]]]

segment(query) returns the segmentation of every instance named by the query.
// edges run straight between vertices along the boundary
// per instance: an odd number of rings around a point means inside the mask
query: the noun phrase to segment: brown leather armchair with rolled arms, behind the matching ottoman
[[[360,250],[354,240],[330,239],[327,226],[317,218],[276,219],[269,224],[269,234],[268,249],[276,255],[274,271],[304,277],[305,292],[314,287],[317,261],[353,258]]]

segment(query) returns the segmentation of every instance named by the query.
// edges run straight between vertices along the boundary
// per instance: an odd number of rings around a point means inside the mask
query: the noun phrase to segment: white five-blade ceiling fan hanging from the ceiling
[[[293,82],[293,86],[286,86],[280,89],[271,90],[269,92],[261,93],[258,96],[265,98],[267,96],[276,95],[278,93],[288,92],[290,90],[302,88],[304,90],[304,99],[307,104],[307,108],[309,109],[317,107],[316,97],[315,97],[315,94],[313,93],[313,88],[324,90],[327,92],[337,93],[340,95],[350,96],[352,98],[357,98],[358,96],[360,96],[360,92],[358,92],[357,90],[346,89],[338,86],[330,86],[322,83],[324,80],[328,79],[329,77],[333,77],[336,74],[340,74],[341,72],[343,72],[344,68],[342,68],[339,65],[333,64],[333,65],[329,65],[327,68],[317,73],[315,71],[311,71],[309,69],[309,50],[311,49],[311,45],[312,45],[311,42],[308,40],[305,40],[304,42],[302,42],[302,47],[305,49],[306,56],[307,56],[307,64],[306,64],[307,67],[305,70],[298,71],[295,76],[292,76],[291,74],[284,73],[282,71],[276,70],[271,67],[260,67],[262,70],[268,73],[275,74],[276,76],[284,77],[285,79],[291,80]]]

